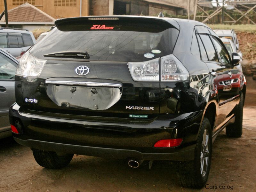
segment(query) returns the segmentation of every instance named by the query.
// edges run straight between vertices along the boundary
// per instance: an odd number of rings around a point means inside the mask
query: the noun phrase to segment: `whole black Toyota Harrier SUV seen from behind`
[[[73,154],[131,167],[171,160],[183,186],[204,186],[217,134],[242,134],[238,54],[193,20],[103,16],[55,26],[16,71],[14,139],[46,168]]]

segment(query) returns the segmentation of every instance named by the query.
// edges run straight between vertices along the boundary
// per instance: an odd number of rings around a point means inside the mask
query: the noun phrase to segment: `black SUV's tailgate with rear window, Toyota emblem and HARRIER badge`
[[[38,77],[23,76],[24,111],[91,121],[111,117],[148,123],[157,118],[164,97],[159,76],[133,80],[128,62],[147,63],[171,54],[175,27],[150,18],[71,18],[55,24],[30,50],[31,57],[47,61]],[[90,58],[45,56],[69,50],[87,51]]]

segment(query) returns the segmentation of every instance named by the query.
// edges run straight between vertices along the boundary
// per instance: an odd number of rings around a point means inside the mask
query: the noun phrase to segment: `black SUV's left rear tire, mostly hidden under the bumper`
[[[32,151],[36,163],[49,169],[60,169],[66,167],[74,156],[74,154],[58,155],[54,151],[45,151],[35,148],[32,148]]]

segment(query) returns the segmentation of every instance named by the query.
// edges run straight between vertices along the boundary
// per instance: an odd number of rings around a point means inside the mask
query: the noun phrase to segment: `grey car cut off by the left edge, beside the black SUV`
[[[0,48],[0,139],[12,136],[9,108],[15,102],[14,76],[19,62]]]

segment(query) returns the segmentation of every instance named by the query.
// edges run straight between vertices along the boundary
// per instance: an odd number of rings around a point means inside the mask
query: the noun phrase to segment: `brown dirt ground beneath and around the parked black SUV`
[[[220,132],[213,144],[206,188],[180,187],[175,167],[168,161],[154,162],[151,170],[132,169],[122,160],[79,155],[66,168],[45,169],[35,162],[29,148],[6,138],[0,140],[0,191],[256,191],[256,81],[246,80],[243,136],[233,139]]]

